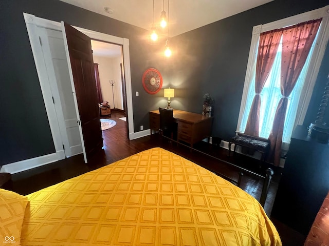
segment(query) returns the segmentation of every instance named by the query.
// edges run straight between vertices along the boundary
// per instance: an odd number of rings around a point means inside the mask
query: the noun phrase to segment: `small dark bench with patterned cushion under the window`
[[[228,156],[231,154],[231,145],[234,144],[233,154],[235,153],[236,146],[242,146],[258,151],[262,154],[261,163],[265,160],[269,151],[270,142],[266,138],[249,136],[242,133],[237,133],[228,143]]]

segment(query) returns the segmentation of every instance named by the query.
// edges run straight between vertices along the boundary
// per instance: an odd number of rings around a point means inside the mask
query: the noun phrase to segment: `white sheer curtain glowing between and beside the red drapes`
[[[272,129],[273,119],[276,113],[276,107],[279,103],[279,100],[281,98],[281,92],[280,92],[280,75],[281,75],[281,51],[282,51],[282,38],[280,41],[280,45],[278,48],[278,53],[275,58],[275,62],[273,64],[272,70],[266,80],[265,86],[261,93],[261,110],[260,110],[260,129],[259,129],[259,136],[268,138],[270,131]],[[314,44],[316,43],[316,39]],[[303,70],[298,78],[297,84],[291,92],[289,96],[289,103],[288,108],[286,112],[286,120],[284,125],[284,131],[283,131],[283,142],[289,143],[291,133],[294,130],[295,127],[295,119],[297,115],[298,105],[300,101],[300,95],[302,92],[302,88],[304,85],[307,69],[309,66],[309,60],[313,53],[314,45],[312,46],[309,55],[306,59],[305,65],[303,67]],[[257,56],[255,56],[257,58]],[[252,104],[252,99],[255,95],[254,92],[254,83],[255,83],[255,64],[256,64],[256,58],[253,63],[253,76],[251,83],[249,84],[248,89],[248,96],[246,101],[246,107],[244,110],[244,114],[241,120],[241,125],[239,127],[240,132],[244,132],[248,120],[248,115],[250,111],[250,107]],[[301,98],[302,99],[302,98]],[[284,147],[284,145],[283,145]]]

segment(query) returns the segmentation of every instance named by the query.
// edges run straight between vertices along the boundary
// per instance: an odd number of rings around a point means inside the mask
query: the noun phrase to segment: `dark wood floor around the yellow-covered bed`
[[[158,134],[129,140],[127,138],[126,124],[127,122],[119,119],[124,114],[119,111],[112,111],[111,116],[102,116],[103,118],[111,118],[116,121],[116,126],[111,129],[102,131],[104,138],[104,147],[100,154],[94,156],[89,163],[85,164],[82,154],[73,156],[58,162],[50,163],[48,165],[34,168],[21,173],[12,175],[12,183],[10,189],[22,195],[30,194],[34,191],[41,190],[45,187],[54,185],[66,179],[78,176],[91,170],[95,170],[102,166],[108,165],[114,161],[120,160],[132,154],[147,150],[153,147],[161,147],[177,153],[187,159],[192,160],[198,165],[205,167],[211,171],[221,172],[224,175],[237,180],[239,175],[237,170],[228,167],[225,163],[218,161],[208,155],[216,158],[226,160],[241,166],[253,172],[265,174],[266,168],[270,167],[275,171],[271,185],[269,187],[268,196],[265,202],[264,210],[270,216],[273,201],[278,188],[280,180],[281,168],[263,165],[259,168],[259,161],[249,158],[244,155],[235,154],[228,157],[228,150],[223,148],[214,148],[206,142],[200,142],[194,146],[195,149],[201,151],[191,151],[187,146],[176,145],[167,140],[161,140]],[[241,183],[241,188],[247,193],[254,196],[256,199],[260,198],[262,189],[262,180],[254,178],[250,175],[244,175]],[[305,237],[294,230],[281,224],[279,221],[273,220],[280,233],[283,245],[302,245]]]

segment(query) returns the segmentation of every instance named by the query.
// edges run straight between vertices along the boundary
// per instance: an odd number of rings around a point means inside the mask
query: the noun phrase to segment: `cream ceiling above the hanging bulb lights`
[[[152,0],[60,0],[122,22],[151,29]],[[162,2],[164,1],[164,2]],[[168,0],[154,0],[154,23],[163,9],[168,17]],[[241,13],[273,0],[171,0],[169,2],[169,36],[176,36],[217,20]],[[108,12],[104,8],[108,9]]]

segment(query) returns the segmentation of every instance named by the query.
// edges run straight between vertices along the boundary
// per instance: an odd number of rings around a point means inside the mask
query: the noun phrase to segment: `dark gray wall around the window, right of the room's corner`
[[[213,135],[230,139],[239,117],[252,27],[328,4],[328,0],[276,0],[172,38],[177,54],[171,80],[181,81],[179,88],[185,92],[184,97],[172,99],[172,107],[179,100],[181,109],[200,113],[203,94],[210,93],[215,99]],[[307,126],[315,119],[314,111],[320,103],[318,94],[322,93],[323,81],[329,72],[328,63],[326,51],[312,107],[305,119]]]

